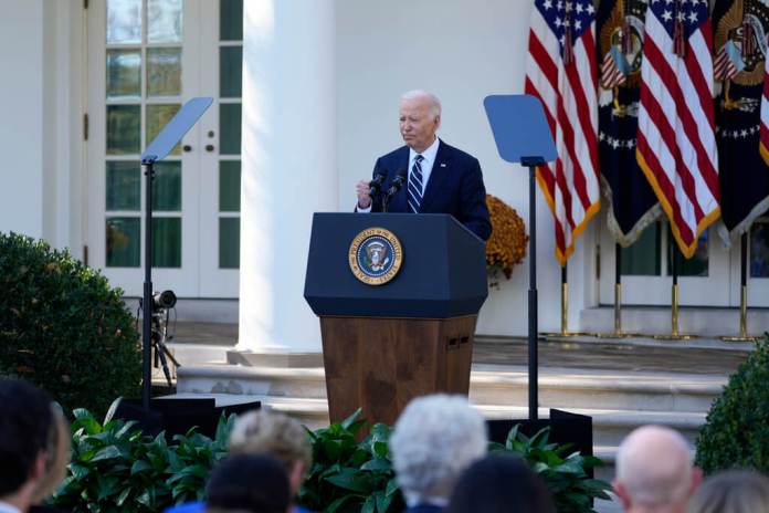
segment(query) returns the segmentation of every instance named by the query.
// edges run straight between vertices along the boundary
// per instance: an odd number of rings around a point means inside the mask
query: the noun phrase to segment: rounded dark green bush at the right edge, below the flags
[[[769,472],[769,335],[729,377],[697,437],[697,464],[710,474],[740,468]]]

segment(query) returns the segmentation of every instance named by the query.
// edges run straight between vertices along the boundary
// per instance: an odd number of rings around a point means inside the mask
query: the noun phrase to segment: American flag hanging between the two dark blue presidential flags
[[[691,258],[720,213],[707,0],[651,0],[645,33],[636,157]]]

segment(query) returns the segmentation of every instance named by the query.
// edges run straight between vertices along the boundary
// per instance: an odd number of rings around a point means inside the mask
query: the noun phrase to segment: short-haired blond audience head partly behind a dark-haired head
[[[235,420],[230,435],[231,454],[271,454],[285,467],[292,494],[296,494],[313,464],[313,449],[299,422],[283,413],[249,411]]]

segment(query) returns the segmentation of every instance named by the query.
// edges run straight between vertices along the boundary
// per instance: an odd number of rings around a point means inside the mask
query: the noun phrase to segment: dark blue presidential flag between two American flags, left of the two
[[[625,248],[662,212],[635,159],[645,15],[644,0],[602,0],[598,6],[598,59],[604,63],[598,100],[601,189],[610,206],[609,232]]]

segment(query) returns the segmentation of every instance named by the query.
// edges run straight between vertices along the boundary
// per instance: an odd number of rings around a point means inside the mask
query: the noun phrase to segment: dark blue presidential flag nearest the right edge
[[[769,208],[769,166],[760,151],[769,6],[717,0],[713,30],[720,210],[734,239]]]

